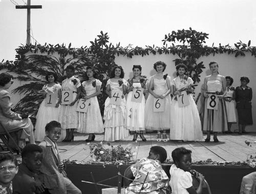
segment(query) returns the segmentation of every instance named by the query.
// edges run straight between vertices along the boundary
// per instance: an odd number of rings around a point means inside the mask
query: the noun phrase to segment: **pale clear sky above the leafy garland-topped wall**
[[[27,0],[0,0],[0,61],[14,60],[26,44]],[[162,46],[165,34],[195,29],[209,34],[206,45],[256,46],[255,0],[31,0],[32,36],[39,44],[90,46],[100,31],[125,47]],[[31,40],[34,44],[35,40]]]

